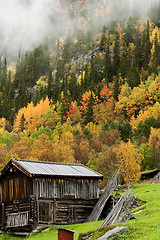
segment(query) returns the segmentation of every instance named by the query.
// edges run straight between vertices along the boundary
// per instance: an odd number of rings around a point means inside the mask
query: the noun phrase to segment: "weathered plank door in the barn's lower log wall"
[[[38,201],[38,222],[53,223],[53,201]]]

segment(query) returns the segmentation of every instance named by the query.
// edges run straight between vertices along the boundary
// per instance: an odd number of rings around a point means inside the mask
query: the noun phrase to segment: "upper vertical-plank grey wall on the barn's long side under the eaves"
[[[38,198],[98,199],[98,180],[34,179],[33,194]]]

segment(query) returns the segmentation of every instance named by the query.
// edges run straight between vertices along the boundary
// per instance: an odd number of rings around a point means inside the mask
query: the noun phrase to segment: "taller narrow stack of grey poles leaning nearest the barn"
[[[101,215],[101,213],[103,211],[103,208],[104,208],[107,200],[109,199],[110,195],[113,193],[115,188],[117,187],[118,175],[119,175],[119,170],[117,171],[115,176],[113,176],[112,179],[107,183],[107,185],[106,185],[106,187],[104,189],[103,194],[99,198],[97,204],[95,205],[95,207],[92,210],[91,214],[87,218],[86,222],[98,221],[98,219],[99,219],[99,217],[100,217],[100,215]]]

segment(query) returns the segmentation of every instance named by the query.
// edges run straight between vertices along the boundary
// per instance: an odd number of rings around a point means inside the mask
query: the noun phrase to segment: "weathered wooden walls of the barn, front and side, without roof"
[[[30,178],[8,169],[0,183],[0,225],[84,222],[99,198],[98,179]]]

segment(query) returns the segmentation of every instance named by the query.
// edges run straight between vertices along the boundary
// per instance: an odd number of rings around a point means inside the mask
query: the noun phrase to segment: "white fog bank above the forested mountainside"
[[[67,8],[64,8],[65,6]],[[156,0],[0,0],[0,49],[8,54],[38,46],[48,38],[93,30],[129,15],[146,15]]]

